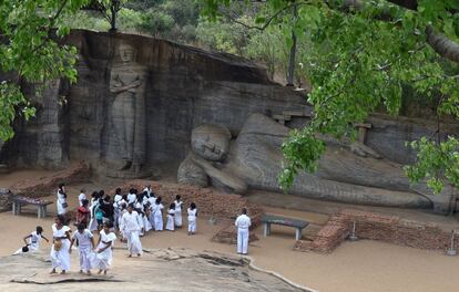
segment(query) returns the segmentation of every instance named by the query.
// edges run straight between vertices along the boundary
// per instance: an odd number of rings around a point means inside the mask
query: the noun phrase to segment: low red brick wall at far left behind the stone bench
[[[90,181],[91,173],[88,164],[81,161],[55,174],[18,181],[10,187],[14,195],[27,197],[50,196],[58,190],[59,184],[72,185]]]

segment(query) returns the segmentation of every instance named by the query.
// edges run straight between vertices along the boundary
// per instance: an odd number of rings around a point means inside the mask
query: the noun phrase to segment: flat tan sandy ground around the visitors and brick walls
[[[90,192],[93,186],[85,187]],[[76,205],[80,188],[81,186],[68,188],[71,207]],[[50,199],[54,200],[54,197]],[[272,213],[304,218],[314,225],[320,225],[327,218],[326,215],[316,212],[272,207],[267,210]],[[54,205],[50,206],[50,211],[51,215],[55,213]],[[35,216],[32,211],[26,211],[22,216],[0,213],[0,255],[11,254],[21,247],[22,237],[32,231],[37,225],[43,226],[44,234],[50,237],[53,218],[39,220]],[[196,236],[188,237],[184,229],[175,232],[150,232],[142,238],[142,242],[146,249],[183,247],[197,251],[234,253],[235,247],[210,241],[212,234],[223,225],[224,222],[218,221],[213,226],[206,218],[200,218]],[[272,236],[268,238],[263,237],[261,228],[256,233],[259,240],[249,247],[249,255],[253,257],[256,265],[319,291],[459,291],[459,277],[457,277],[459,257],[446,257],[440,252],[367,240],[345,242],[328,255],[302,253],[292,250],[295,243],[293,229],[273,227]],[[48,252],[50,247],[50,243],[43,242],[41,249]],[[118,247],[122,246],[119,243]],[[76,252],[73,257],[76,257],[75,254]],[[114,265],[118,269],[122,267],[128,269],[130,261],[135,259],[126,259],[123,250],[115,251]],[[75,264],[74,258],[72,270],[78,270]]]

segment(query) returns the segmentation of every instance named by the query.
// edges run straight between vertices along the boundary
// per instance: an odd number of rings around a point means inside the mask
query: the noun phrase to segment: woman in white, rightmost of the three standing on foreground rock
[[[99,268],[99,274],[104,273],[112,265],[113,261],[113,251],[112,247],[116,240],[116,234],[111,231],[113,225],[111,222],[105,222],[103,229],[101,230],[101,236],[99,238],[99,244],[95,249],[95,267]]]

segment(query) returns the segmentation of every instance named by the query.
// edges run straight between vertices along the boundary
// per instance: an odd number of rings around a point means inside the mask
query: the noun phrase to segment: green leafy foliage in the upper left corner
[[[76,80],[75,49],[57,41],[70,31],[63,19],[85,4],[86,0],[0,0],[0,139],[14,135],[17,114],[27,119],[34,114],[20,82]]]

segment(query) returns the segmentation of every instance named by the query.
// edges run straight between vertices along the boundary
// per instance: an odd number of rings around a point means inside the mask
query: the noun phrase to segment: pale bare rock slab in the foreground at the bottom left
[[[115,250],[115,254],[121,251]],[[74,252],[73,254],[76,254]],[[74,260],[76,260],[75,255]],[[0,259],[2,291],[304,291],[247,267],[241,258],[186,249],[153,250],[142,259],[114,259],[106,277],[50,275],[39,253]]]

